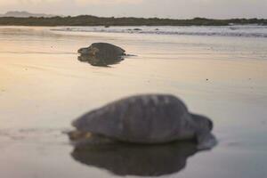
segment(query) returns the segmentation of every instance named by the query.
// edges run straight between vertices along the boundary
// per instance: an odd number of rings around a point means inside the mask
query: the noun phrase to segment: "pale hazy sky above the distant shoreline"
[[[0,0],[0,13],[168,18],[267,18],[267,0]]]

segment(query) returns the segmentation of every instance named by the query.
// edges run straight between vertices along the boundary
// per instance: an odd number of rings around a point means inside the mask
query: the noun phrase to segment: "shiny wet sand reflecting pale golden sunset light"
[[[93,42],[137,56],[110,68],[78,61],[77,49]],[[0,46],[1,177],[118,176],[73,158],[62,132],[85,112],[136,93],[173,93],[214,120],[219,145],[163,176],[267,176],[267,38],[2,27]]]

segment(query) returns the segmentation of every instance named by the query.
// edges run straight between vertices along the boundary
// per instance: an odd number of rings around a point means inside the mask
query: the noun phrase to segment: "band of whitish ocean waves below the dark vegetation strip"
[[[128,34],[155,34],[177,36],[244,36],[267,37],[265,26],[227,26],[227,27],[65,27],[53,28],[65,32],[102,32]]]

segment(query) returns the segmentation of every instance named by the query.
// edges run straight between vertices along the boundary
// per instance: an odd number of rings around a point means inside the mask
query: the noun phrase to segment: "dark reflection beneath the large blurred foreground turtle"
[[[180,172],[185,168],[187,159],[197,151],[194,142],[150,146],[129,143],[87,144],[75,148],[71,157],[86,166],[105,169],[119,176],[160,176]]]

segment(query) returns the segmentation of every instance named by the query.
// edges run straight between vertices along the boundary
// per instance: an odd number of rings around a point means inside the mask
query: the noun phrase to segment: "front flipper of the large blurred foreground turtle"
[[[210,150],[218,143],[213,134],[206,132],[197,134],[197,142],[198,150]]]

